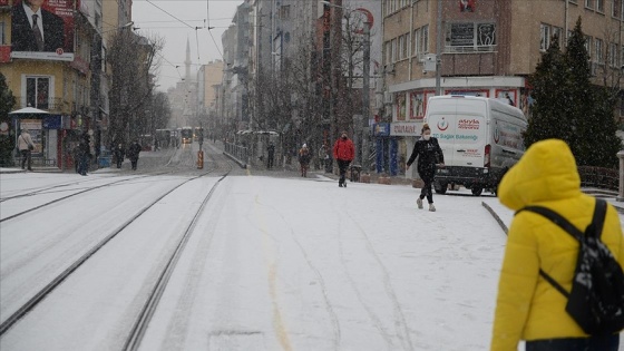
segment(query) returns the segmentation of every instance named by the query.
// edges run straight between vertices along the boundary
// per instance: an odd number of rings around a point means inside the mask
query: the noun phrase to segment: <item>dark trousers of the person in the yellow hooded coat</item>
[[[565,338],[526,342],[526,351],[617,351],[620,334],[592,338]]]

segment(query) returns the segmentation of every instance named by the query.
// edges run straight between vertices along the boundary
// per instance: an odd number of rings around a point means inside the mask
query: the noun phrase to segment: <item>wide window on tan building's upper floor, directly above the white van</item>
[[[447,52],[494,51],[495,47],[495,23],[458,22],[447,27]]]

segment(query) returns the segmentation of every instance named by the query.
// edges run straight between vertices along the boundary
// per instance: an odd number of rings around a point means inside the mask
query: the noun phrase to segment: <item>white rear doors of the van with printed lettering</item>
[[[448,166],[484,167],[487,103],[462,97],[431,99],[427,121]]]

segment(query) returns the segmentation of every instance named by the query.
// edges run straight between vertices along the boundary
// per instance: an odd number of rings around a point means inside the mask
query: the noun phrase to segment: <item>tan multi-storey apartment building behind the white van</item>
[[[437,90],[501,98],[530,116],[527,77],[553,38],[565,48],[578,18],[594,82],[622,87],[622,0],[383,0],[382,7],[386,108],[376,125],[378,172],[404,173]]]

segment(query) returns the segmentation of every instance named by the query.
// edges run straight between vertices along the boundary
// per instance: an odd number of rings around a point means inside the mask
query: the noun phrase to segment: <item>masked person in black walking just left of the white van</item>
[[[413,145],[413,150],[411,152],[411,156],[407,163],[407,168],[411,166],[417,157],[418,174],[420,175],[422,182],[425,182],[425,186],[420,191],[420,196],[416,203],[418,208],[422,208],[422,199],[427,197],[427,201],[429,202],[429,211],[433,212],[436,211],[436,206],[433,206],[431,183],[433,183],[433,177],[436,176],[436,165],[445,165],[445,155],[438,144],[438,139],[431,137],[431,128],[429,128],[428,124],[422,126],[422,138]]]

